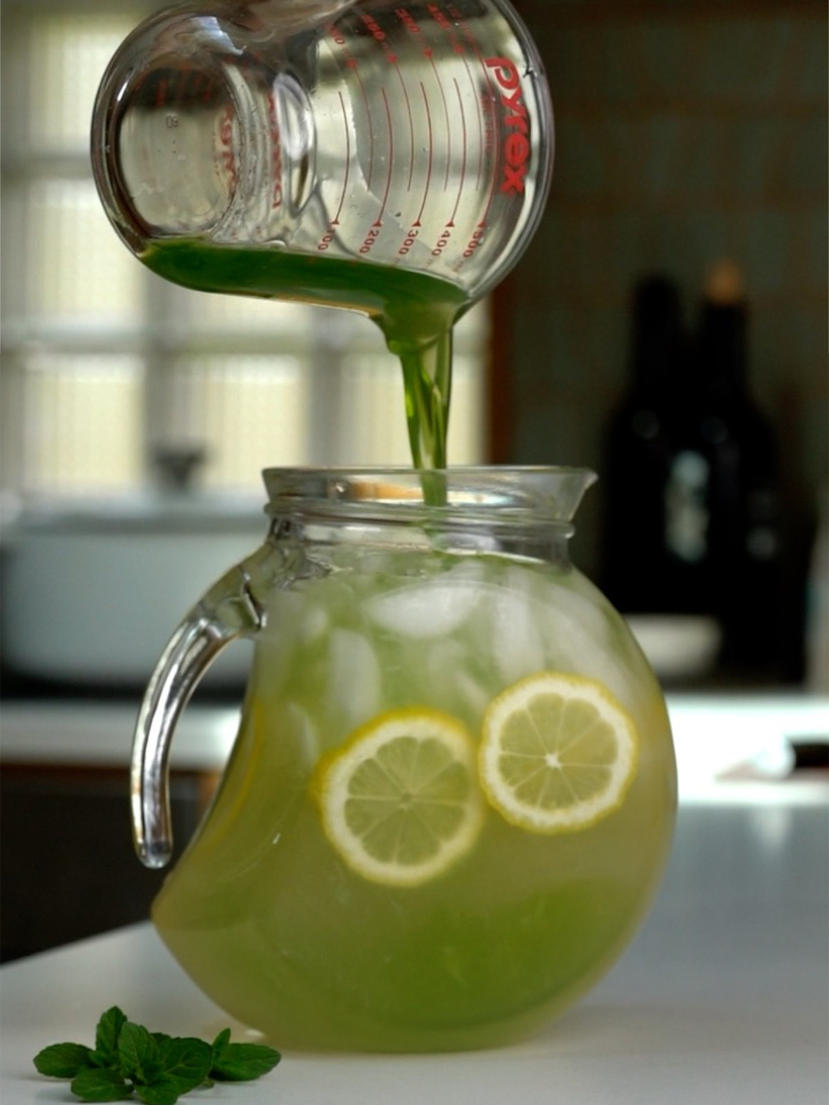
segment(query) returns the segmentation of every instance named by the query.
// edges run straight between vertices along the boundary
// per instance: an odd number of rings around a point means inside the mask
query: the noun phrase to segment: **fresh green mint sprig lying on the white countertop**
[[[198,1086],[259,1078],[281,1057],[264,1044],[231,1043],[230,1029],[212,1044],[149,1032],[113,1006],[97,1023],[94,1048],[54,1043],[38,1052],[34,1066],[50,1077],[71,1078],[72,1093],[82,1102],[120,1102],[136,1095],[145,1105],[175,1105]]]

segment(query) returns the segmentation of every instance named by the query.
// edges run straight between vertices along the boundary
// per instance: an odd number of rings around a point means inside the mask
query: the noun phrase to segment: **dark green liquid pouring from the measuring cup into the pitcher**
[[[414,466],[445,467],[452,326],[471,305],[460,287],[424,273],[365,261],[188,239],[155,242],[141,261],[159,276],[199,292],[292,299],[367,314],[400,358]],[[432,499],[440,494],[431,486],[424,491]]]

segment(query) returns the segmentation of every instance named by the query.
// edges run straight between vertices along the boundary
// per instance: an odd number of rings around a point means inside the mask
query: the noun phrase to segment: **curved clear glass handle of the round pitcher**
[[[169,753],[190,695],[222,649],[250,636],[265,615],[252,590],[256,555],[231,568],[197,602],[170,638],[147,685],[133,739],[133,836],[147,867],[162,867],[172,852]]]

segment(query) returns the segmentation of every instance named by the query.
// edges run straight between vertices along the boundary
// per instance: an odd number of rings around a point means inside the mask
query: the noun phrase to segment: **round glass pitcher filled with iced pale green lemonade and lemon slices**
[[[255,655],[223,779],[153,918],[196,982],[277,1046],[520,1039],[615,961],[667,861],[662,695],[567,555],[589,474],[432,475],[444,505],[423,505],[412,472],[266,473],[266,544],[186,622],[190,648],[193,627],[237,619],[229,635],[253,632]],[[169,684],[176,661],[162,666]],[[166,712],[156,699],[144,720]],[[565,789],[586,760],[589,790],[628,741],[623,785],[581,817],[587,791],[548,802],[531,782],[522,815],[502,783],[527,719],[518,755]],[[151,804],[146,745],[139,732]]]

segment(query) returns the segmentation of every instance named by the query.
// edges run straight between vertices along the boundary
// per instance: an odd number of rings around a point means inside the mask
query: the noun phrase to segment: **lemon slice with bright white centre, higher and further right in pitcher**
[[[539,672],[490,704],[479,750],[481,786],[512,824],[573,832],[621,804],[637,749],[633,722],[604,684]]]

